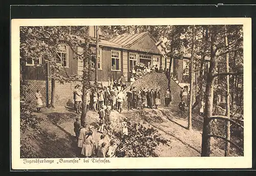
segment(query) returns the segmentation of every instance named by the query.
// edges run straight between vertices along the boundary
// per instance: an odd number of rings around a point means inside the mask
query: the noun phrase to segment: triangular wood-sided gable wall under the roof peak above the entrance
[[[155,41],[148,34],[146,34],[144,37],[135,42],[131,47],[129,47],[129,49],[160,53],[160,51],[157,49],[155,45]]]

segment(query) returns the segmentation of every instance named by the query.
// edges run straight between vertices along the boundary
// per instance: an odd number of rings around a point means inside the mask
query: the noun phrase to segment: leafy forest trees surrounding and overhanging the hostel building
[[[197,92],[205,97],[204,122],[202,133],[202,157],[210,156],[211,122],[213,119],[225,121],[226,134],[220,137],[226,140],[225,156],[229,155],[230,142],[230,120],[243,117],[243,26],[239,25],[207,25],[207,26],[98,26],[96,38],[89,36],[88,26],[53,26],[53,27],[21,27],[20,28],[20,90],[21,98],[26,100],[26,81],[23,80],[23,67],[28,58],[38,59],[41,57],[44,63],[49,65],[51,75],[49,79],[52,84],[52,97],[50,106],[54,108],[55,81],[70,82],[77,81],[77,75],[61,76],[65,68],[58,65],[58,44],[66,42],[77,56],[76,59],[83,60],[83,97],[81,123],[86,119],[86,92],[90,87],[98,87],[97,81],[97,59],[92,60],[90,42],[96,43],[96,55],[99,48],[98,41],[100,28],[101,33],[108,38],[121,34],[134,34],[148,31],[156,40],[167,38],[165,46],[169,49],[166,56],[170,58],[182,58],[184,54],[190,54],[190,102],[188,113],[188,130],[192,129],[193,97]],[[83,40],[81,40],[83,38]],[[40,48],[36,40],[41,41]],[[83,54],[77,52],[77,47],[84,50]],[[210,58],[210,67],[204,71],[204,59]],[[96,56],[96,58],[98,58]],[[172,59],[170,59],[172,60]],[[91,64],[95,62],[95,83],[90,84]],[[172,63],[169,64],[169,71]],[[198,73],[199,75],[195,74]],[[170,78],[169,78],[170,79]],[[23,94],[24,93],[24,94]],[[24,95],[24,96],[22,96]],[[225,116],[215,116],[218,96],[226,97]],[[29,103],[29,102],[27,102]],[[22,129],[36,127],[37,119],[30,118],[31,112],[26,111],[26,101],[21,104],[20,123]],[[240,125],[241,126],[241,125]],[[218,137],[218,136],[215,136]]]

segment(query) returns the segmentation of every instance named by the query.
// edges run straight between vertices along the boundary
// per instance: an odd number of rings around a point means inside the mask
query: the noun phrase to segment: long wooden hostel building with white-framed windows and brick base
[[[90,36],[95,37],[95,28],[90,27]],[[84,42],[83,38],[79,38]],[[38,43],[38,47],[40,43]],[[95,53],[96,43],[91,42],[89,47]],[[98,58],[98,81],[103,85],[108,85],[109,79],[119,79],[124,75],[125,81],[130,81],[132,68],[138,63],[142,62],[147,64],[150,62],[152,65],[162,65],[163,68],[168,68],[170,58],[165,57],[166,48],[160,41],[158,42],[149,32],[142,32],[133,35],[120,35],[113,39],[105,39],[100,34],[99,40],[99,58]],[[74,49],[70,48],[65,43],[59,45],[59,66],[61,67],[61,75],[79,75],[82,76],[83,61],[77,54],[73,52]],[[77,53],[82,54],[83,49],[75,49]],[[181,86],[187,85],[188,74],[185,70],[189,56],[181,59],[172,60],[171,72],[177,75],[177,79]],[[94,63],[92,70],[94,70]],[[35,92],[37,89],[41,91],[42,101],[44,105],[50,103],[51,97],[51,69],[49,65],[41,58],[37,61],[28,60],[24,69],[23,79],[28,80],[30,89]],[[93,71],[92,71],[93,72]],[[94,80],[94,74],[91,75],[91,81]],[[56,82],[56,105],[67,105],[73,101],[73,89],[78,82]],[[34,94],[28,96],[28,99],[34,100]]]

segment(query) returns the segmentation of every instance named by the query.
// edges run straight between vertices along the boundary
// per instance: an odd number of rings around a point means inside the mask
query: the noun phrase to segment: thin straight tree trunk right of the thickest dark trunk
[[[225,45],[228,46],[228,38],[227,38],[227,29],[226,29],[226,25],[225,25],[225,31],[226,31],[226,35],[225,35]],[[228,53],[226,54],[226,73],[229,73],[229,55]],[[226,76],[226,81],[227,81],[227,85],[226,85],[226,116],[229,118],[230,117],[230,99],[229,99],[229,75]],[[227,120],[226,121],[226,139],[230,140],[230,121]],[[230,148],[230,143],[226,141],[226,145],[225,145],[225,157],[229,156],[229,148]]]

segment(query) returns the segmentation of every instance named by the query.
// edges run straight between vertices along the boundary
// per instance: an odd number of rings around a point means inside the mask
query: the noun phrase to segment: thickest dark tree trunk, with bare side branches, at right
[[[204,122],[203,122],[203,134],[202,134],[202,147],[201,157],[210,156],[210,132],[211,123],[210,117],[212,117],[212,107],[214,102],[214,83],[218,65],[217,45],[218,39],[216,39],[217,31],[211,31],[211,48],[210,48],[210,68],[207,73],[206,90],[205,90],[205,109],[204,109]]]

